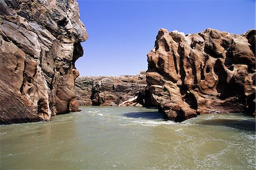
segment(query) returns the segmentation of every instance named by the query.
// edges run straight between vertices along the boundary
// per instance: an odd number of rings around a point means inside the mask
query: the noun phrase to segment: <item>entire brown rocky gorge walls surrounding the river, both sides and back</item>
[[[75,90],[75,62],[88,38],[77,2],[0,5],[1,124],[49,121],[79,111],[79,103],[139,103],[178,122],[202,113],[255,116],[255,29],[235,35],[207,28],[186,36],[159,29],[146,79],[145,73],[89,76],[79,78]]]

